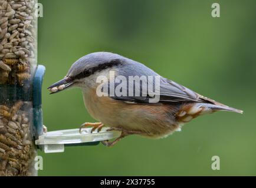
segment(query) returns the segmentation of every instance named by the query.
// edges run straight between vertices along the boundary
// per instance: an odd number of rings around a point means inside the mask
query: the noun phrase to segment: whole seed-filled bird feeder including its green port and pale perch
[[[43,132],[41,89],[45,68],[37,66],[35,0],[0,0],[0,176],[37,176],[37,150],[92,146],[120,136],[91,129]]]

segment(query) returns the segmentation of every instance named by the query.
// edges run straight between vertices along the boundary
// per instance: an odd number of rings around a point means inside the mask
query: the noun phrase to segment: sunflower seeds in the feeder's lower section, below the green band
[[[30,161],[34,159],[29,103],[18,101],[13,106],[0,105],[0,176],[29,176]],[[11,116],[7,113],[8,112]],[[28,120],[28,122],[27,122]],[[22,122],[27,124],[22,124]]]

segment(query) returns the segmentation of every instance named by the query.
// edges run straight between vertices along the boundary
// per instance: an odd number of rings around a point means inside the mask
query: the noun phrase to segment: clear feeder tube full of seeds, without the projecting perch
[[[0,176],[37,176],[32,119],[35,4],[34,0],[0,0]]]

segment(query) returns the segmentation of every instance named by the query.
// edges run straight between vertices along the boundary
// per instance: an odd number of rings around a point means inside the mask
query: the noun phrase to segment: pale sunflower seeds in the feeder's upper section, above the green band
[[[36,3],[0,0],[0,84],[23,86],[31,78],[37,58]]]

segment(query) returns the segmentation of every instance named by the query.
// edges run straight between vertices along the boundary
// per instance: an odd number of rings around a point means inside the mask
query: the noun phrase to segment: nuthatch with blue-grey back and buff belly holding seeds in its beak
[[[112,73],[112,77],[110,78]],[[130,77],[133,76],[133,77]],[[130,83],[122,86],[120,93],[110,92],[111,88],[104,90],[106,95],[98,95],[99,90],[110,87],[111,81],[116,78],[122,80],[134,78]],[[99,82],[99,78],[102,79]],[[157,78],[157,79],[156,79]],[[158,81],[157,81],[158,80]],[[117,87],[114,82],[114,87]],[[143,83],[150,85],[159,83],[155,87],[158,92],[143,90]],[[137,87],[136,87],[137,84]],[[135,85],[135,86],[134,86]],[[113,86],[113,85],[112,85]],[[139,86],[139,87],[138,87]],[[80,133],[85,127],[93,127],[94,131],[100,132],[103,126],[107,126],[107,131],[120,131],[120,136],[110,142],[104,140],[105,146],[114,146],[117,142],[129,135],[140,135],[152,139],[159,139],[172,135],[175,131],[180,131],[181,127],[190,122],[195,117],[213,113],[217,111],[229,111],[243,113],[242,110],[231,108],[210,98],[199,95],[185,86],[179,85],[173,80],[163,78],[152,69],[140,62],[125,58],[111,52],[94,52],[83,56],[73,63],[64,79],[54,83],[48,89],[50,94],[61,92],[65,89],[80,88],[83,93],[84,105],[87,112],[96,119],[97,123],[84,123],[80,126]],[[98,92],[98,93],[97,93]],[[137,92],[137,95],[134,93]],[[124,95],[129,93],[129,95]],[[101,93],[102,94],[102,93]],[[151,101],[150,101],[151,100]]]

